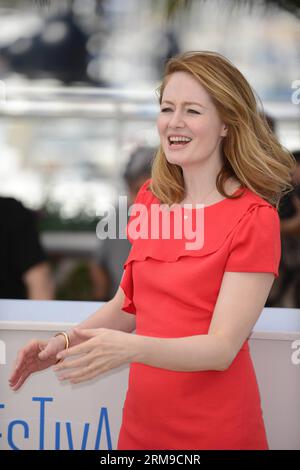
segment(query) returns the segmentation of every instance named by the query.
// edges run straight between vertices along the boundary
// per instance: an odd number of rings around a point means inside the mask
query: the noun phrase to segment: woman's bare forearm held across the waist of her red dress
[[[228,343],[221,336],[154,338],[135,335],[135,357],[152,367],[174,371],[225,370],[231,363]]]

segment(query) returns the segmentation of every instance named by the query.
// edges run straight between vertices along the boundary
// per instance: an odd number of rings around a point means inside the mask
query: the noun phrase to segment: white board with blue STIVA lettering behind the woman
[[[115,449],[128,367],[78,385],[48,369],[8,386],[17,350],[93,313],[94,302],[0,300],[0,449]],[[264,309],[250,337],[271,449],[300,449],[300,310]]]

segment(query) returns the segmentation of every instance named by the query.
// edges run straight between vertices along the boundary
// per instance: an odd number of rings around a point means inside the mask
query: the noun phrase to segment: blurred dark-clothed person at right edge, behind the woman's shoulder
[[[282,198],[279,206],[282,254],[267,307],[300,308],[300,150],[293,155],[297,161],[292,177],[294,190]]]

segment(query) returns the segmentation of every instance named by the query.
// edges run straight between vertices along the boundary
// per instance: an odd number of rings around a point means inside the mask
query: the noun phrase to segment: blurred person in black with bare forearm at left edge
[[[0,217],[0,298],[53,299],[33,213],[13,198],[0,197]]]

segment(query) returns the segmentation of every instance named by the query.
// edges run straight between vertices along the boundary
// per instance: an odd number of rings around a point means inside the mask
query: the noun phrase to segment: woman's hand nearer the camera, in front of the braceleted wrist
[[[103,372],[134,361],[135,335],[106,328],[74,329],[81,344],[61,351],[56,357],[61,362],[53,367],[60,380],[85,382]],[[78,356],[78,357],[74,357]],[[66,361],[65,359],[68,360]]]

